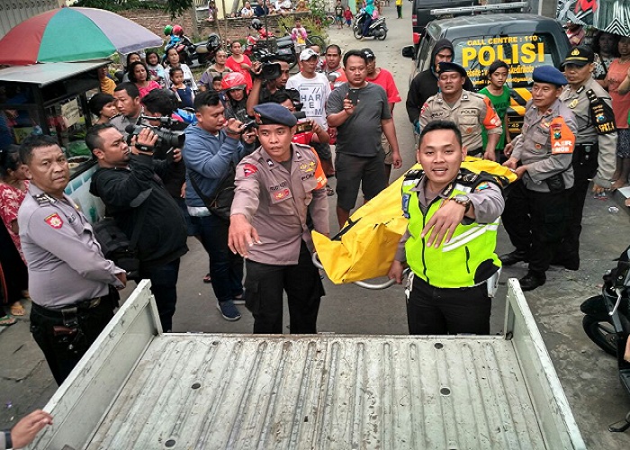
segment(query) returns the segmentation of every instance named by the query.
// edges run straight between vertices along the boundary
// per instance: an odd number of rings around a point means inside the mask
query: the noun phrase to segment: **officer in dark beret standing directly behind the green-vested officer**
[[[454,62],[440,62],[440,92],[429,97],[420,111],[420,130],[430,121],[454,121],[462,132],[464,147],[472,157],[496,160],[495,149],[503,129],[491,101],[485,95],[464,90],[466,70]],[[483,148],[482,128],[488,132]]]

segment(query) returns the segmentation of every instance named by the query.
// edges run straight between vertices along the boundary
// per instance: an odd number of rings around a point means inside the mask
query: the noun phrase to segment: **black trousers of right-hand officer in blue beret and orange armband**
[[[529,260],[529,271],[545,276],[569,217],[570,190],[537,193],[521,180],[511,184],[501,219],[509,240]]]

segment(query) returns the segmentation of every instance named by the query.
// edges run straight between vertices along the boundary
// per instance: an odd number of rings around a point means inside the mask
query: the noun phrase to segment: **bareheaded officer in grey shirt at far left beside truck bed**
[[[56,139],[33,136],[20,157],[31,185],[18,214],[29,267],[31,333],[58,384],[113,317],[124,270],[103,257],[94,231],[66,194],[70,171]]]

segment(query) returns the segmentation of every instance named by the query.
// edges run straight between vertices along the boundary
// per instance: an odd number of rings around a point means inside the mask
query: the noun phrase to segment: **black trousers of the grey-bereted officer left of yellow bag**
[[[254,316],[254,333],[283,333],[283,292],[289,304],[292,334],[317,333],[324,286],[304,241],[298,264],[273,266],[246,259],[245,305]]]

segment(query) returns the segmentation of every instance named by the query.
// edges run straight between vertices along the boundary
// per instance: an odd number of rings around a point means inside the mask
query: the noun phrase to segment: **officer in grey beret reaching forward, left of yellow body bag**
[[[254,108],[261,147],[237,166],[229,248],[246,257],[245,304],[254,333],[282,334],[283,291],[291,333],[316,333],[320,273],[311,261],[314,229],[329,234],[326,176],[317,155],[292,143],[297,119],[277,103]]]

